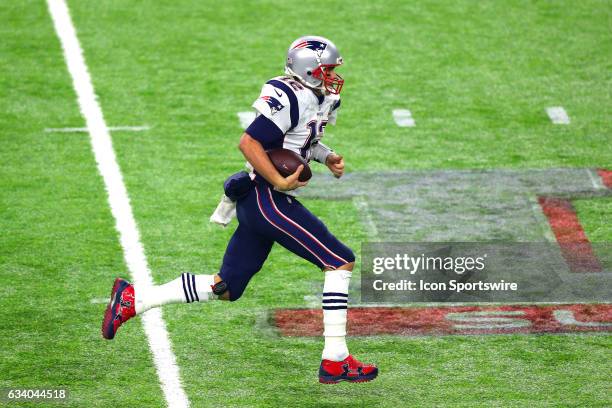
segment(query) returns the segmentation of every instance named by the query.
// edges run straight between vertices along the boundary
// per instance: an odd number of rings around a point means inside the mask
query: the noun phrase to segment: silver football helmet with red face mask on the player
[[[295,40],[287,51],[285,73],[297,78],[309,88],[339,94],[344,79],[329,76],[327,69],[342,65],[336,45],[325,37],[307,35]]]

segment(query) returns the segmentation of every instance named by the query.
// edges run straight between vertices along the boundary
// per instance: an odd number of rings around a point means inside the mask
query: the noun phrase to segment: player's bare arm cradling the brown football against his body
[[[257,173],[278,190],[294,190],[307,184],[307,182],[298,181],[298,177],[300,176],[304,166],[300,165],[295,173],[288,177],[281,176],[270,161],[270,158],[268,157],[268,154],[264,150],[261,143],[255,138],[251,137],[251,135],[248,133],[245,132],[242,134],[238,148],[247,161],[251,163]]]

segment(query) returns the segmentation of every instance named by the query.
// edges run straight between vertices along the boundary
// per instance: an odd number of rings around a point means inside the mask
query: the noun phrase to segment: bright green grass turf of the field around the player
[[[152,126],[113,141],[157,282],[217,270],[232,229],[207,217],[243,164],[235,114],[304,33],[332,38],[346,61],[326,140],[348,171],[612,167],[606,1],[69,5],[107,123]],[[163,405],[139,321],[106,342],[104,306],[89,302],[127,271],[87,136],[42,132],[83,126],[46,6],[8,2],[0,15],[0,386],[66,386],[67,406]],[[572,124],[550,124],[551,105]],[[397,128],[396,107],[417,127]],[[577,208],[610,242],[601,202]],[[351,247],[368,239],[350,202],[306,204]],[[612,403],[608,335],[351,339],[380,378],[320,386],[322,340],[278,338],[265,319],[321,283],[275,248],[239,302],[164,308],[192,405]]]

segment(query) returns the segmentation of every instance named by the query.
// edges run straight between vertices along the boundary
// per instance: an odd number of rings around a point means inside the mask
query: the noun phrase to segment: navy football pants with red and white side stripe
[[[321,269],[336,269],[353,262],[353,252],[295,197],[259,182],[236,205],[238,228],[230,239],[219,276],[230,300],[242,296],[249,281],[263,266],[278,242]]]

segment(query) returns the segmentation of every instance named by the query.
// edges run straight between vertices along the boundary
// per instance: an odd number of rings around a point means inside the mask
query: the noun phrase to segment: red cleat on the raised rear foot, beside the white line
[[[112,340],[119,326],[136,316],[134,285],[125,279],[117,278],[111,292],[111,299],[104,312],[102,336]]]

